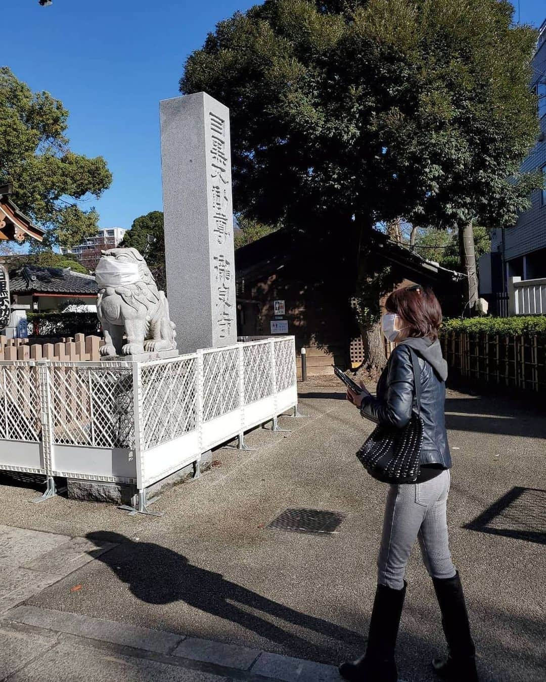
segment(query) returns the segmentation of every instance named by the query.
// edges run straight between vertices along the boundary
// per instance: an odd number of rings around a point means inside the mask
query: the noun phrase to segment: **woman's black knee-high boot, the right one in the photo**
[[[446,680],[478,682],[476,648],[470,634],[461,578],[433,578],[434,590],[442,611],[442,627],[448,642],[448,655],[435,658],[432,667]]]

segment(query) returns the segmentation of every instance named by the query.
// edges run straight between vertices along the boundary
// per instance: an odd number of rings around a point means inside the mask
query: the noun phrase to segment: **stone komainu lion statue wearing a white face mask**
[[[106,340],[101,355],[139,355],[176,348],[167,298],[158,291],[137,249],[102,251],[95,276],[97,314]]]

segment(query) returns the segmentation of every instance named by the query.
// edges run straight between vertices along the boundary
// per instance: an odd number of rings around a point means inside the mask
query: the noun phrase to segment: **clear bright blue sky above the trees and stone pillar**
[[[252,0],[1,0],[0,64],[70,111],[72,149],[102,155],[113,183],[96,205],[100,226],[130,227],[162,209],[159,100],[175,97],[184,61],[216,23]],[[543,0],[520,0],[541,25]],[[516,0],[517,18],[517,0]]]

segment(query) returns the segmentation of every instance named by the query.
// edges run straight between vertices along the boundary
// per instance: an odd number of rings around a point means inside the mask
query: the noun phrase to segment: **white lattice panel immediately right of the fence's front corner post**
[[[141,368],[144,449],[197,428],[197,358]]]

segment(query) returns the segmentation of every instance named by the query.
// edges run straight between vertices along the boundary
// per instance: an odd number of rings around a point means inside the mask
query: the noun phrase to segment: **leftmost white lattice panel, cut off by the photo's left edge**
[[[0,439],[40,441],[42,424],[37,367],[0,366],[0,406]]]

